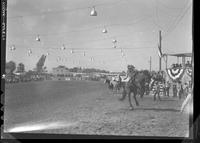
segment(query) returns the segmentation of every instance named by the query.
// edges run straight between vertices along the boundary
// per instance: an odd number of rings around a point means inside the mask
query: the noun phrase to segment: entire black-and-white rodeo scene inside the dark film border
[[[7,0],[4,133],[191,137],[192,0]]]

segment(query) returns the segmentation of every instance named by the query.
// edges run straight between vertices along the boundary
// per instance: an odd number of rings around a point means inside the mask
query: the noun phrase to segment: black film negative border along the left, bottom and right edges
[[[195,24],[194,24],[194,8],[198,9],[198,4],[194,4],[193,0],[193,16],[192,16],[192,34],[193,34],[193,57],[192,57],[192,63],[193,63],[193,72],[192,72],[192,81],[194,84],[194,33],[199,31],[194,30]],[[5,80],[4,80],[4,75],[5,75],[5,63],[6,63],[6,29],[7,29],[7,0],[1,0],[1,112],[4,112],[4,97],[5,97]],[[196,21],[195,21],[196,22]],[[200,24],[197,24],[200,25]],[[197,28],[197,25],[195,29]],[[198,36],[200,37],[200,36]],[[198,66],[195,65],[195,66]],[[197,76],[196,76],[197,77]],[[198,78],[196,78],[198,79]],[[195,85],[195,84],[194,84]],[[200,85],[200,84],[198,84]],[[197,85],[197,86],[198,86]],[[198,87],[194,86],[194,92],[196,92]],[[197,93],[197,92],[196,92]],[[190,115],[190,134],[189,138],[184,138],[184,137],[150,137],[150,136],[110,136],[110,135],[103,135],[103,136],[97,136],[97,135],[67,135],[67,134],[34,134],[34,133],[4,133],[3,132],[3,125],[1,125],[1,138],[4,140],[21,140],[21,139],[111,139],[115,141],[128,141],[128,140],[137,140],[137,142],[140,141],[180,141],[180,142],[193,142],[200,136],[200,117],[199,113],[197,113],[197,106],[199,104],[197,98],[198,94],[194,94],[194,114]],[[196,103],[195,103],[196,102]],[[1,114],[1,119],[3,121],[4,117],[3,114]],[[117,139],[117,140],[116,140]],[[123,139],[123,140],[121,140]],[[128,139],[128,140],[125,140]],[[20,142],[20,141],[19,141]]]

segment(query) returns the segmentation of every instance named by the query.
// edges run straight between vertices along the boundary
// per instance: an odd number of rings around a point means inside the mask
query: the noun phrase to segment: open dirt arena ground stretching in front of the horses
[[[103,82],[41,81],[5,90],[5,132],[37,125],[31,132],[184,137],[189,130],[189,116],[179,112],[183,99],[138,97],[140,106],[132,100],[130,111],[128,98],[119,101]]]

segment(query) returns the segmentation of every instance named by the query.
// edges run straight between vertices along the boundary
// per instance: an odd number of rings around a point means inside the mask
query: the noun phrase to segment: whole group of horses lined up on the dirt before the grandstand
[[[124,80],[124,79],[106,79],[104,83],[108,85],[108,88],[111,91],[115,91],[117,93],[122,94],[122,97],[119,99],[123,101],[128,95],[130,110],[133,110],[133,104],[131,102],[131,95],[133,94],[133,98],[137,106],[139,106],[139,102],[136,98],[137,95],[140,95],[141,98],[146,94],[148,95],[150,91],[153,91],[154,100],[156,100],[156,95],[158,95],[158,99],[160,98],[160,92],[164,85],[165,79],[162,76],[152,75],[149,71],[138,71],[135,74],[133,80]]]

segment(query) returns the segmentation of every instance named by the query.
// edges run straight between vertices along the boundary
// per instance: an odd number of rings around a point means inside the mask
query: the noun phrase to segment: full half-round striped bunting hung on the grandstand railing
[[[167,74],[173,81],[177,81],[182,78],[182,76],[184,74],[184,69],[183,68],[167,69]]]

